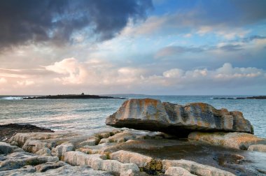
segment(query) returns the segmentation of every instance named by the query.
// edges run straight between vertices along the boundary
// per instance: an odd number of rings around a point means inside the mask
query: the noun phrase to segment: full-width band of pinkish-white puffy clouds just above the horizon
[[[41,69],[43,70],[40,71]],[[72,57],[33,71],[16,70],[16,72],[17,78],[12,72],[11,78],[0,78],[0,84],[8,82],[14,89],[20,89],[21,94],[30,94],[33,91],[40,94],[60,94],[62,90],[73,93],[89,90],[93,94],[129,92],[156,94],[157,91],[162,94],[174,94],[173,92],[178,91],[182,94],[188,89],[205,88],[208,94],[208,89],[219,87],[228,91],[232,87],[237,89],[255,85],[266,87],[264,70],[254,67],[233,67],[229,63],[212,70],[172,68],[162,73],[155,73],[154,68],[120,67],[99,59],[81,62]],[[29,86],[30,91],[27,89]]]

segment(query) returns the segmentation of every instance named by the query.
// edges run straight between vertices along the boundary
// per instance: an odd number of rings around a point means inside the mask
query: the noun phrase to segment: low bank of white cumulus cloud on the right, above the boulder
[[[222,67],[215,70],[194,69],[183,71],[180,68],[173,68],[162,73],[162,75],[153,75],[146,80],[153,85],[169,87],[170,89],[218,89],[219,87],[241,87],[245,85],[265,85],[266,72],[259,68],[232,67],[230,63],[223,64]],[[162,82],[164,82],[162,84]],[[197,88],[194,88],[194,87]],[[167,88],[165,88],[167,89]]]

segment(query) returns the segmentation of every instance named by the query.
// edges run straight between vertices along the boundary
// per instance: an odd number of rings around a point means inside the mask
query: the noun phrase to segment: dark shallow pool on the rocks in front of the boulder
[[[266,172],[266,154],[263,152],[230,149],[187,140],[140,141],[142,146],[150,147],[141,148],[132,145],[125,147],[125,150],[151,156],[153,159],[195,161],[207,166],[228,170],[239,176],[264,175]],[[159,146],[155,147],[158,142],[160,143]],[[165,147],[162,147],[163,145]]]

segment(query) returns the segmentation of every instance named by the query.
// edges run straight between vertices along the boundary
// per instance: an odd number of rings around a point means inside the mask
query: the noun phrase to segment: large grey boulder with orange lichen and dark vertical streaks
[[[228,131],[253,133],[253,126],[238,111],[217,110],[207,103],[179,105],[159,100],[130,99],[106,118],[106,124],[175,135],[191,131]]]

